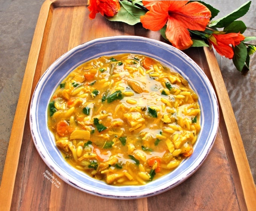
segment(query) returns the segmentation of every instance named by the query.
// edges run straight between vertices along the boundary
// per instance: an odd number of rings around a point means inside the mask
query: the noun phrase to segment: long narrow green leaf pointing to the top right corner
[[[216,28],[223,28],[223,27],[228,26],[230,23],[232,23],[236,19],[244,16],[248,12],[250,5],[251,5],[251,1],[244,3],[242,6],[240,6],[238,9],[234,10],[230,14],[228,14],[222,18],[219,18],[218,20],[212,21],[209,24],[209,27],[214,26]]]

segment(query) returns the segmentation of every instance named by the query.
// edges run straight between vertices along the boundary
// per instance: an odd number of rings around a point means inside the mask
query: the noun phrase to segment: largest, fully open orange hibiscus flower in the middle
[[[142,1],[149,10],[140,17],[144,28],[158,31],[165,26],[166,38],[180,50],[188,49],[193,41],[189,30],[204,31],[211,12],[199,2],[189,1]]]

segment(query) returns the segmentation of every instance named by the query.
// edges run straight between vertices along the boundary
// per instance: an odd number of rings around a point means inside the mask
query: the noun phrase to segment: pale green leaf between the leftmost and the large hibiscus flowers
[[[119,1],[120,10],[113,17],[106,17],[110,21],[121,21],[129,25],[140,23],[140,16],[145,15],[146,11],[129,3],[128,1]]]

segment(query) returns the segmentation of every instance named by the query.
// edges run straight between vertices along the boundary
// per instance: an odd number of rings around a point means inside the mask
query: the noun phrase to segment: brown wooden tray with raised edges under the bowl
[[[0,187],[0,210],[255,210],[256,189],[215,55],[208,48],[186,50],[205,71],[219,101],[220,123],[215,144],[199,170],[177,187],[157,196],[105,199],[79,191],[61,181],[35,149],[29,127],[30,98],[44,71],[59,56],[94,38],[137,35],[162,40],[158,32],[110,22],[101,15],[88,18],[87,1],[46,0],[41,8],[14,117]],[[162,40],[163,41],[163,40]],[[50,172],[61,183],[44,177]]]

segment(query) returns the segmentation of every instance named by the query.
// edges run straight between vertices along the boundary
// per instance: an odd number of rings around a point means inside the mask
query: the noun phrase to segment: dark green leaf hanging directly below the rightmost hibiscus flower
[[[247,48],[244,43],[240,43],[238,46],[235,46],[234,49],[234,56],[233,56],[233,63],[236,69],[239,72],[242,72],[242,69],[245,65],[245,61],[247,58]]]

